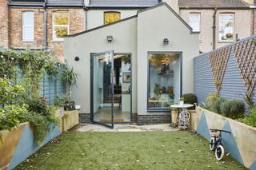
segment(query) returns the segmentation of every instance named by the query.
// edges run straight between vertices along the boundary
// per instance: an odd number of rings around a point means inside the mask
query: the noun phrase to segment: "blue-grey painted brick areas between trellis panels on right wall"
[[[225,49],[230,46],[234,47],[237,43],[244,42],[248,39],[256,38],[252,36],[250,38],[245,38],[239,42],[226,45],[219,49]],[[254,48],[254,45],[252,45]],[[219,50],[216,49],[216,50]],[[248,47],[247,47],[248,49]],[[214,51],[216,51],[214,50]],[[198,57],[194,57],[194,93],[198,97],[199,102],[206,102],[206,97],[209,93],[215,92],[214,86],[214,77],[210,67],[209,53],[202,54]],[[256,60],[256,50],[254,50],[254,57],[252,60]],[[256,62],[254,62],[254,70],[256,68]],[[255,80],[255,76],[254,76]],[[238,62],[234,56],[234,50],[231,50],[230,59],[226,66],[226,73],[222,81],[222,89],[220,90],[219,95],[229,99],[239,99],[242,100],[242,97],[245,96],[246,88],[243,84],[243,79],[240,74],[238,67]],[[256,101],[255,89],[254,94],[252,95],[253,100]]]

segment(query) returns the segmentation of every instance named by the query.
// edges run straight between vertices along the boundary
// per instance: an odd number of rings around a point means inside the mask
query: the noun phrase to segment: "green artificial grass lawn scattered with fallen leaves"
[[[16,169],[246,169],[190,132],[68,132]]]

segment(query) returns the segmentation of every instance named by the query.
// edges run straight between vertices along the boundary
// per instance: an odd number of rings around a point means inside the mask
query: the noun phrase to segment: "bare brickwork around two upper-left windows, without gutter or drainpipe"
[[[34,42],[22,42],[22,12],[34,12]],[[47,42],[48,46],[63,61],[63,42],[52,41],[52,14],[55,11],[68,11],[70,15],[70,34],[75,34],[84,30],[84,10],[83,9],[47,9]],[[44,45],[44,10],[32,8],[10,8],[10,48],[25,49],[27,45],[31,48],[39,49]]]

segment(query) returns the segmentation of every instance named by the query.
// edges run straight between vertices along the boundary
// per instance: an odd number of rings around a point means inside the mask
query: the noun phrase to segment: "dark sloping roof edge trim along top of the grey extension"
[[[147,10],[152,10],[152,9],[157,8],[157,7],[159,7],[159,6],[166,6],[166,7],[184,24],[184,26],[186,26],[186,27],[190,30],[190,34],[199,34],[199,32],[193,32],[192,28],[178,15],[166,2],[160,3],[160,4],[156,5],[156,6],[151,6],[150,8],[146,8],[146,9],[144,9],[144,10],[138,10],[137,13],[139,14],[139,13],[145,12],[145,11],[147,11]],[[117,23],[120,23],[120,22],[125,22],[125,21],[127,21],[127,20],[132,19],[132,18],[137,18],[137,17],[138,17],[138,14],[136,14],[136,15],[134,15],[134,16],[131,16],[131,17],[129,17],[129,18],[121,19],[121,20],[119,20],[118,22],[112,22],[112,23],[107,24],[107,25],[98,26],[98,27],[95,27],[95,28],[93,28],[93,29],[85,30],[85,31],[82,31],[82,32],[77,33],[77,34],[66,35],[66,36],[64,36],[64,38],[76,37],[76,36],[78,36],[78,35],[86,34],[86,33],[89,33],[89,32],[91,32],[91,31],[94,31],[94,30],[99,30],[99,29],[105,28],[105,27],[107,27],[107,26],[112,26],[112,25],[117,24]]]

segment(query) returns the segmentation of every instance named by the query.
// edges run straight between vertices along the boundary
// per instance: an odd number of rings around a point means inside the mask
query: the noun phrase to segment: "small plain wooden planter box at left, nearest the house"
[[[67,131],[78,124],[79,124],[78,110],[64,112],[64,117],[62,117],[62,131]]]

